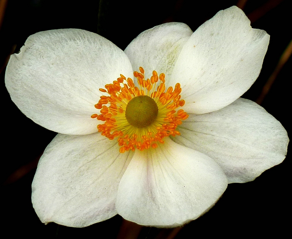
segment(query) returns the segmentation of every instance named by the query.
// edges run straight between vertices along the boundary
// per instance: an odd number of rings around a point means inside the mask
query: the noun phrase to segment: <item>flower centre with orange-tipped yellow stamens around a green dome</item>
[[[180,99],[179,83],[174,89],[170,86],[166,90],[164,73],[158,77],[153,71],[151,78],[145,80],[144,69],[139,70],[134,72],[139,88],[131,78],[120,75],[113,84],[105,85],[106,90],[99,89],[109,96],[100,96],[95,105],[100,114],[91,115],[105,122],[97,126],[103,136],[111,140],[118,138],[120,153],[157,148],[157,143],[164,143],[164,137],[179,135],[176,127],[189,116],[183,109],[176,111],[185,104]]]

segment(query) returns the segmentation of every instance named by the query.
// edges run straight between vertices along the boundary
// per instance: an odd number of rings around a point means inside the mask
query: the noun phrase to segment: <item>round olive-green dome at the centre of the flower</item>
[[[158,106],[149,96],[137,96],[126,107],[126,119],[129,124],[143,128],[151,125],[158,114]]]

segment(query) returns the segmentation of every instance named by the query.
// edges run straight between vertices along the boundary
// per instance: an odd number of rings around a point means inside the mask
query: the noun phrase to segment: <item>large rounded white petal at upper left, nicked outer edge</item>
[[[5,84],[30,119],[63,134],[97,131],[94,108],[105,84],[133,75],[125,53],[98,34],[79,29],[38,32],[11,55]]]

